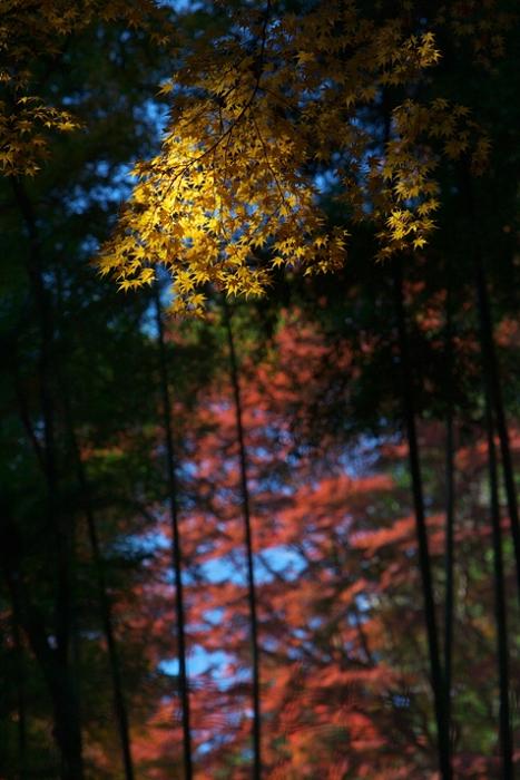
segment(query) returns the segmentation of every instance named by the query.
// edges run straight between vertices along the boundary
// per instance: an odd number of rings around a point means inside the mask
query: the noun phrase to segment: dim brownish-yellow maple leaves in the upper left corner
[[[0,0],[0,170],[33,175],[47,155],[49,131],[79,127],[61,107],[37,94],[35,70],[51,62],[67,39],[96,20],[144,27],[160,11],[153,0]],[[160,14],[163,16],[163,14]],[[41,72],[39,78],[41,78]]]

